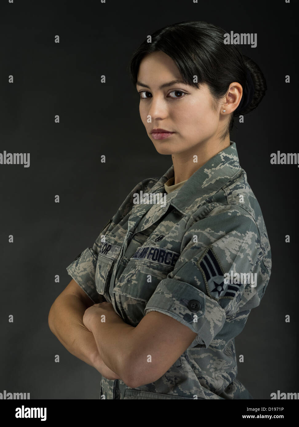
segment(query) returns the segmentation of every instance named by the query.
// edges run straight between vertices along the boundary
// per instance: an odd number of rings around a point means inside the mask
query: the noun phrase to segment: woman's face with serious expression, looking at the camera
[[[187,154],[187,150],[192,153],[196,146],[199,148],[206,140],[217,138],[220,125],[223,129],[224,116],[212,110],[206,84],[200,89],[185,83],[160,88],[173,80],[182,80],[182,76],[170,56],[158,51],[142,59],[136,85],[143,98],[139,105],[141,120],[160,154]],[[174,133],[165,139],[155,139],[151,134],[154,128]]]

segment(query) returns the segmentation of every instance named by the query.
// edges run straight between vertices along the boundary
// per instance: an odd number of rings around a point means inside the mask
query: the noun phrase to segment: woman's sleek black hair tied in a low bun
[[[224,44],[224,34],[227,32],[222,28],[203,21],[174,23],[153,32],[151,43],[145,40],[135,50],[128,66],[136,86],[142,58],[155,51],[166,53],[175,62],[186,84],[196,88],[201,83],[208,85],[214,111],[217,111],[219,100],[225,96],[232,82],[239,82],[244,91],[247,67],[255,88],[253,99],[244,111],[232,113],[221,140],[232,131],[234,118],[254,110],[267,90],[266,80],[258,65],[242,55],[235,44]],[[197,82],[193,82],[194,75]]]

